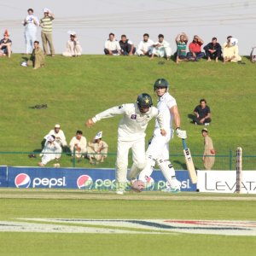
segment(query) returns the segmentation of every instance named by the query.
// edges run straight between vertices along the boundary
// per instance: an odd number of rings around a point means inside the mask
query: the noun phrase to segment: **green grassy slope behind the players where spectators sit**
[[[1,58],[0,151],[32,151],[55,123],[61,123],[67,142],[78,129],[85,137],[103,131],[109,152],[116,151],[119,118],[102,120],[92,129],[84,128],[84,120],[95,113],[123,102],[135,102],[137,95],[153,95],[154,80],[170,81],[170,92],[177,99],[182,128],[188,131],[188,144],[193,154],[202,154],[201,126],[191,125],[188,114],[204,97],[212,108],[209,127],[218,154],[228,154],[241,146],[244,154],[256,154],[255,68],[235,63],[200,61],[176,65],[173,61],[158,65],[160,60],[148,58],[83,55],[79,58],[56,56],[47,58],[46,67],[37,71],[20,67],[22,55],[10,60]],[[47,103],[48,109],[31,109]],[[154,98],[154,104],[156,99]],[[152,134],[149,126],[148,137]],[[181,153],[181,142],[175,138],[172,153]],[[16,165],[34,165],[27,159]],[[114,157],[110,162],[113,162]],[[0,156],[1,164],[9,163]],[[69,163],[70,165],[70,163]],[[108,164],[109,166],[110,164]]]

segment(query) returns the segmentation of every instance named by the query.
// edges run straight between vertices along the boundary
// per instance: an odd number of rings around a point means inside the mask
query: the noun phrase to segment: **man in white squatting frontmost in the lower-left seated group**
[[[40,154],[42,160],[38,163],[38,166],[45,166],[50,160],[58,161],[60,159],[61,146],[59,143],[55,142],[55,136],[48,135],[45,139],[44,148]],[[60,164],[55,164],[54,166],[57,167],[60,166]]]

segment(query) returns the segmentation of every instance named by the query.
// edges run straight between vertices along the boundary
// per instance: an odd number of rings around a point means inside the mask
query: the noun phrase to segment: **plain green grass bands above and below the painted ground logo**
[[[183,193],[179,195],[183,196]],[[77,196],[79,197],[79,195]],[[170,201],[2,199],[0,206],[4,211],[1,214],[1,219],[177,218],[255,220],[255,201],[172,201],[172,195],[169,196]],[[256,249],[253,236],[0,233],[0,240],[2,241],[0,255],[19,254],[20,256],[166,255],[170,252],[172,255],[236,256],[246,253],[253,255]]]

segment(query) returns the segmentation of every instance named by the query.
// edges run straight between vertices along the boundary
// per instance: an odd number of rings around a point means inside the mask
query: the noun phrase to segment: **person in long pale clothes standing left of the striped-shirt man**
[[[32,53],[34,42],[37,40],[37,26],[39,26],[39,20],[33,13],[33,9],[28,9],[26,18],[22,22],[23,26],[25,26],[24,34],[27,55]]]

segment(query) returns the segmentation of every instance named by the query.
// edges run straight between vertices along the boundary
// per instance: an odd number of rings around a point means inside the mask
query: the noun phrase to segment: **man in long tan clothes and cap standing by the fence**
[[[206,170],[211,170],[215,161],[215,150],[212,143],[212,138],[208,136],[207,128],[201,131],[202,137],[204,137],[205,150],[203,154],[203,162]]]

